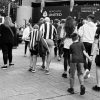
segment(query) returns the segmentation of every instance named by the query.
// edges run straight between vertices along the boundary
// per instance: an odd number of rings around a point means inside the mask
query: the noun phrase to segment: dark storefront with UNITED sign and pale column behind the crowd
[[[22,5],[17,8],[17,23],[24,25],[30,18],[33,23],[37,23],[44,12],[52,20],[65,19],[68,15],[77,19],[85,18],[91,13],[100,19],[100,0],[75,0],[73,12],[70,12],[69,8],[70,0],[45,0],[45,7],[41,13],[41,0],[22,0]]]

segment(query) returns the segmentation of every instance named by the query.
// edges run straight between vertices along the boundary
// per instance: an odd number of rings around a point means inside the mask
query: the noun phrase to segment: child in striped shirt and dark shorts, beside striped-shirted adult
[[[36,62],[38,55],[38,41],[39,41],[39,26],[35,24],[33,30],[30,33],[30,68],[29,71],[36,72]]]

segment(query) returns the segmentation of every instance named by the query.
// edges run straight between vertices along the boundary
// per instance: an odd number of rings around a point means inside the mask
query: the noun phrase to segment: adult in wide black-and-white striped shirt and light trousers
[[[43,61],[42,68],[45,68],[45,61],[46,61],[46,74],[49,74],[49,65],[54,55],[54,41],[56,39],[57,31],[54,25],[50,23],[49,17],[46,17],[44,20],[45,23],[41,25],[40,33],[42,34],[42,37],[44,38],[49,47],[49,53],[47,53],[47,57],[42,57]]]

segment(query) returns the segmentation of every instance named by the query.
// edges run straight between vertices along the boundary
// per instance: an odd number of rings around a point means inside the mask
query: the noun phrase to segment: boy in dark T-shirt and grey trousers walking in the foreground
[[[90,61],[91,59],[86,53],[83,43],[79,41],[79,36],[76,33],[72,34],[72,41],[73,43],[70,46],[70,88],[68,88],[67,91],[74,94],[74,77],[75,71],[77,70],[77,75],[80,82],[80,95],[84,95],[84,56],[86,56]]]

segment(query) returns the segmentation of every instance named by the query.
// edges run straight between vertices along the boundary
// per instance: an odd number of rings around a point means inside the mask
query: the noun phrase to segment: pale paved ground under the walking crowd
[[[29,51],[24,57],[24,44],[13,49],[14,66],[0,69],[0,100],[100,100],[100,92],[95,92],[92,87],[96,84],[95,64],[92,65],[91,77],[85,80],[86,93],[80,95],[80,85],[75,80],[75,94],[69,94],[69,76],[64,79],[63,59],[52,59],[50,75],[41,70],[41,58],[38,57],[36,73],[28,72]],[[2,52],[0,51],[0,67],[3,65]]]

